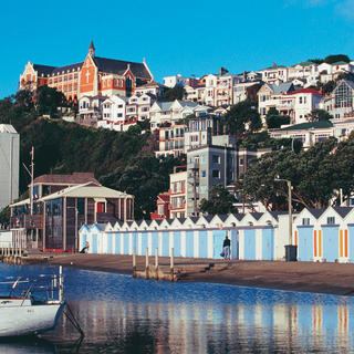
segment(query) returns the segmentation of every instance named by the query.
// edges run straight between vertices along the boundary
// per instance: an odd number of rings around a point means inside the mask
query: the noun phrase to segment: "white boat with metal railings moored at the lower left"
[[[12,284],[9,294],[0,295],[0,337],[40,334],[53,330],[65,306],[63,282],[56,275],[0,282]],[[59,299],[54,299],[59,288]]]

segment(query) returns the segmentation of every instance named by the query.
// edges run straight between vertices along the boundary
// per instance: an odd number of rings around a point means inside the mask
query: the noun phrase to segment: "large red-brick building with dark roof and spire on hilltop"
[[[98,58],[91,41],[84,62],[60,67],[28,62],[20,75],[20,90],[48,85],[63,92],[69,101],[76,101],[82,96],[129,96],[153,79],[145,60],[134,63]]]

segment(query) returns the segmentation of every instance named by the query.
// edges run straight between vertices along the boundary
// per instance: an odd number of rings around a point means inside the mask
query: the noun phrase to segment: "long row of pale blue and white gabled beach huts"
[[[299,261],[354,262],[354,208],[303,209],[293,215],[292,244]],[[220,259],[231,240],[231,258],[283,260],[289,244],[287,212],[267,211],[83,225],[82,249],[90,253]]]

